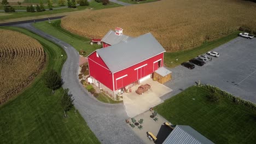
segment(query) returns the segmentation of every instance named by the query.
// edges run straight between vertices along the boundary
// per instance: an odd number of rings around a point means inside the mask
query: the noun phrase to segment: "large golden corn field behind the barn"
[[[256,34],[256,3],[241,0],[162,0],[63,17],[62,28],[102,38],[121,27],[132,37],[152,33],[167,52],[191,49],[240,27]]]

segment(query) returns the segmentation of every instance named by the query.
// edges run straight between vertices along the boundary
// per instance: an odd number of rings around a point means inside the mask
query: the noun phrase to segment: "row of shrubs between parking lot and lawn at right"
[[[206,88],[208,91],[210,91],[211,93],[214,93],[214,95],[217,95],[217,97],[222,97],[228,100],[233,101],[234,103],[238,104],[238,105],[244,105],[246,107],[248,107],[251,110],[256,110],[256,105],[254,103],[252,103],[251,101],[248,100],[244,100],[241,99],[239,97],[236,97],[228,92],[222,91],[221,89],[219,89],[218,87],[214,87],[211,85],[200,85],[203,88]],[[212,95],[211,95],[212,97]]]

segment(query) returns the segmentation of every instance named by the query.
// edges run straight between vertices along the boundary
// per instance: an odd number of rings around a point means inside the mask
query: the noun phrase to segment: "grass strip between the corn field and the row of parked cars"
[[[177,65],[180,65],[182,62],[187,62],[191,58],[194,58],[222,44],[227,43],[228,41],[236,38],[238,33],[240,33],[240,31],[235,31],[230,35],[227,35],[223,38],[220,38],[214,41],[206,42],[205,44],[202,44],[201,46],[195,47],[194,49],[191,49],[191,50],[179,51],[179,52],[165,52],[164,63],[167,64],[167,67],[170,67],[170,68],[176,67]],[[176,61],[176,59],[178,59],[178,61]]]

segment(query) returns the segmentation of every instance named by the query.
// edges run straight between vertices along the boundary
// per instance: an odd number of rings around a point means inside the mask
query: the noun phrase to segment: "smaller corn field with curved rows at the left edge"
[[[0,104],[26,87],[42,70],[43,46],[25,34],[0,29]]]

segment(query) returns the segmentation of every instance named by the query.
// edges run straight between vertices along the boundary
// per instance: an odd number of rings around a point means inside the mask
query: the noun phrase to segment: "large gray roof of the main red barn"
[[[129,41],[96,50],[112,73],[126,69],[137,63],[165,52],[151,33]]]

